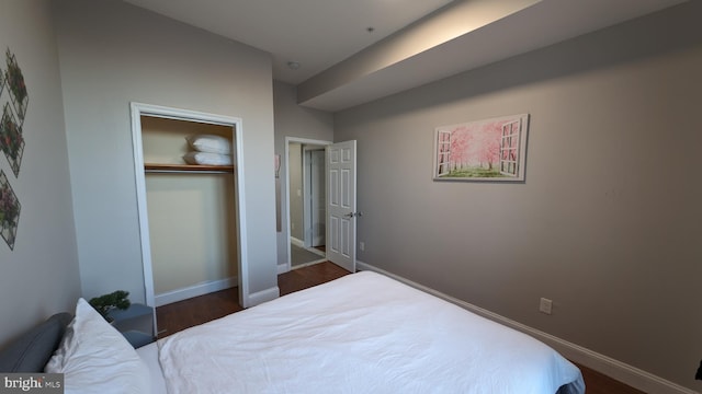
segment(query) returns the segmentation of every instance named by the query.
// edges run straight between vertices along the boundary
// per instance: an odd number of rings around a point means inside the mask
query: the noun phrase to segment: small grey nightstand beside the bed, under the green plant
[[[133,303],[126,310],[110,311],[110,317],[114,318],[112,325],[124,335],[134,348],[155,340],[154,308]]]

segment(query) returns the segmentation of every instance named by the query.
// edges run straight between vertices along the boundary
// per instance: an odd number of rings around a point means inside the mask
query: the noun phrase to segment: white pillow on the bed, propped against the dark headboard
[[[148,393],[148,368],[129,343],[86,300],[45,367],[64,373],[68,393]]]

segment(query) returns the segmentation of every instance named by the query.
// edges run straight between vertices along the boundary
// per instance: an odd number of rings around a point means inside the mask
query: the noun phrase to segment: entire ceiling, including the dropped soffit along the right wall
[[[302,105],[333,112],[684,0],[124,1],[270,53]]]

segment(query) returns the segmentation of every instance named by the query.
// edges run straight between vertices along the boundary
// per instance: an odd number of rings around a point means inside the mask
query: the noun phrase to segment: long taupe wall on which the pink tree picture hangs
[[[700,14],[689,2],[336,114],[335,140],[358,140],[358,258],[702,390]],[[437,126],[521,113],[524,183],[432,182]]]

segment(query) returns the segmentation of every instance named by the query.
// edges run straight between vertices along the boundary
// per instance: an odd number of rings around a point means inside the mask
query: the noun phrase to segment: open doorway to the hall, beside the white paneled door
[[[288,270],[326,260],[325,147],[330,143],[285,138]]]

